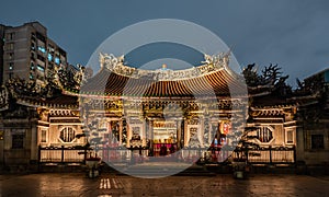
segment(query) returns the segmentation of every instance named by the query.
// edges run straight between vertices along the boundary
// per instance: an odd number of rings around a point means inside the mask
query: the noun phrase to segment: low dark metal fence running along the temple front
[[[89,153],[94,150],[66,147],[47,147],[38,148],[38,161],[41,163],[83,163]],[[129,163],[139,159],[151,160],[154,158],[147,148],[98,148],[98,155],[105,162],[111,163]],[[175,152],[175,157],[162,157],[164,161],[180,162],[201,162],[201,163],[222,163],[228,159],[239,159],[245,154],[245,159],[251,164],[293,164],[296,162],[295,147],[266,147],[259,149],[250,149],[247,151],[228,151],[220,149],[206,148],[184,148]],[[160,157],[161,158],[161,157]],[[172,159],[172,160],[171,160]]]

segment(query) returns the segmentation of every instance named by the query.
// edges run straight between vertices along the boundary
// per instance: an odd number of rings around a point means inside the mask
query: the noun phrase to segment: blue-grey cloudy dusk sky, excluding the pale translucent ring
[[[4,25],[41,22],[48,36],[68,53],[72,65],[86,65],[95,48],[115,32],[154,19],[179,19],[204,26],[232,47],[241,67],[256,62],[262,69],[277,63],[290,74],[292,85],[296,78],[329,67],[327,0],[11,0],[1,2],[0,12]],[[174,47],[144,47],[127,59],[134,65],[145,63],[155,58],[150,51],[166,54]],[[177,50],[182,48],[178,46]],[[186,49],[177,58],[198,65],[200,57]]]

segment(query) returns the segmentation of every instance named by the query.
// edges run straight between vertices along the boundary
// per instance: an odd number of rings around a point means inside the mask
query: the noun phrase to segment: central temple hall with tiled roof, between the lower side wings
[[[215,139],[234,146],[228,136],[245,126],[248,94],[228,68],[228,55],[177,71],[140,70],[101,55],[101,70],[81,88],[80,99],[83,119],[104,131],[90,134],[103,146],[144,147],[147,155],[163,157],[185,147],[209,148]]]

